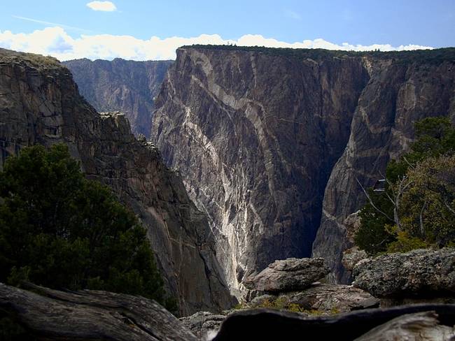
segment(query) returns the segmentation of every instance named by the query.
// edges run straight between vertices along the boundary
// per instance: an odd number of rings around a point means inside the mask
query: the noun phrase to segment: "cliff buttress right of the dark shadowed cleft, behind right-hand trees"
[[[342,252],[352,246],[344,219],[365,200],[362,189],[384,174],[390,159],[408,150],[419,119],[455,117],[455,52],[432,60],[435,52],[415,62],[364,59],[370,82],[358,101],[351,136],[332,170],[325,189],[321,227],[313,245],[314,256],[323,256],[333,281],[346,282]]]

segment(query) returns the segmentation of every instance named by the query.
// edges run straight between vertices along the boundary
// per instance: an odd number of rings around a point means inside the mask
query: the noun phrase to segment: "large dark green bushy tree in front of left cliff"
[[[36,145],[0,173],[0,282],[102,289],[165,301],[146,231],[65,145]]]

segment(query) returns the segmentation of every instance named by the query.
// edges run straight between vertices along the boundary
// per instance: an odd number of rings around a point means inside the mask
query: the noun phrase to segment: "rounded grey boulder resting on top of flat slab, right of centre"
[[[248,289],[286,292],[306,289],[329,273],[321,258],[283,259],[274,261],[258,275],[245,282]]]

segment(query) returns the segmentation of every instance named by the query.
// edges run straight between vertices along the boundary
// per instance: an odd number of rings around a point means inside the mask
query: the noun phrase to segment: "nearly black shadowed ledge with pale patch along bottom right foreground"
[[[384,325],[380,327],[381,335],[378,329],[374,331],[379,335],[378,339],[371,338],[370,333],[360,340],[451,340],[454,324],[455,305],[408,305],[359,310],[332,317],[304,317],[276,310],[242,310],[226,319],[214,341],[295,340],[295,335],[304,340],[352,341],[381,325]],[[384,338],[384,335],[389,338]],[[431,338],[432,335],[449,338]],[[425,336],[428,338],[423,338]]]

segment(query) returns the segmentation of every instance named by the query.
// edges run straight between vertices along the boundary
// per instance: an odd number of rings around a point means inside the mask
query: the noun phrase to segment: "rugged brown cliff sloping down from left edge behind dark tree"
[[[230,305],[207,219],[158,150],[134,138],[124,115],[99,115],[55,59],[0,49],[0,167],[22,147],[60,142],[148,228],[181,314]]]

